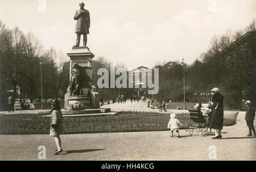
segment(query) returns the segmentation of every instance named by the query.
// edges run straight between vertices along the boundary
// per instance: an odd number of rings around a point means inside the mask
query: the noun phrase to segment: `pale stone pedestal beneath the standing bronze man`
[[[89,48],[73,47],[71,51],[67,53],[67,55],[70,57],[69,81],[71,80],[72,68],[74,64],[84,67],[82,70],[85,70],[91,80],[93,79],[92,58],[94,57],[94,54],[90,52]],[[80,102],[83,109],[100,108],[100,98],[96,89],[94,88],[95,86],[88,88],[89,94],[86,96],[71,96],[71,93],[68,91],[68,93],[65,94],[65,109],[71,110],[72,104],[75,102]]]

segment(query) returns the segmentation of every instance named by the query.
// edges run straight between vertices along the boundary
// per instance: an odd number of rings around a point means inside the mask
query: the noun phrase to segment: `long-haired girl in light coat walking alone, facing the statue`
[[[50,136],[53,136],[53,139],[55,140],[57,150],[55,155],[59,154],[60,152],[63,152],[63,149],[61,148],[61,139],[60,135],[63,134],[63,116],[61,113],[60,103],[58,99],[52,100],[52,110],[51,112],[51,129],[50,129]]]

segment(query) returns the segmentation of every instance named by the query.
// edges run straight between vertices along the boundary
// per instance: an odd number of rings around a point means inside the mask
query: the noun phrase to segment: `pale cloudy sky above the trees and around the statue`
[[[256,19],[255,0],[45,0],[42,11],[43,1],[0,0],[0,20],[8,28],[31,31],[46,49],[67,53],[76,40],[73,16],[84,2],[90,12],[90,51],[127,68],[182,58],[191,64],[213,36]]]

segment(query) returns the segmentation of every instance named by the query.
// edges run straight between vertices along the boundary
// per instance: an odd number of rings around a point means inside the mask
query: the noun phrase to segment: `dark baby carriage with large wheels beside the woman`
[[[201,132],[203,136],[207,133],[207,118],[208,115],[204,115],[197,108],[189,108],[190,122],[185,124],[185,131],[189,132],[192,136],[193,132]]]

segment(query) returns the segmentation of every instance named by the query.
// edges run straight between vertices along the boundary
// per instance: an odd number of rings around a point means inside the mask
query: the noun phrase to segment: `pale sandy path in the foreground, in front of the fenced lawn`
[[[0,135],[0,160],[39,160],[38,146],[46,146],[46,160],[210,160],[209,146],[216,146],[216,160],[256,160],[256,138],[246,137],[245,112],[237,123],[224,127],[222,140],[200,134],[170,137],[170,131],[85,133],[62,135],[65,152],[53,153],[48,135]]]

